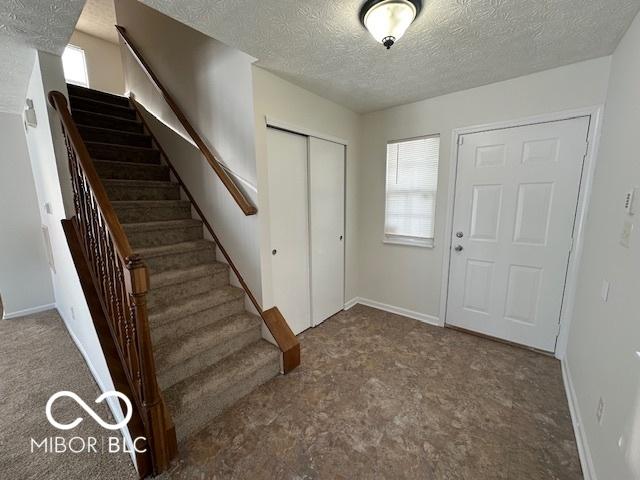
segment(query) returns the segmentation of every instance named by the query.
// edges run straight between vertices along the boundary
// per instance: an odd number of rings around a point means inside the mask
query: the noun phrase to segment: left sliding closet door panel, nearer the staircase
[[[311,326],[307,140],[267,132],[273,299],[296,335]]]

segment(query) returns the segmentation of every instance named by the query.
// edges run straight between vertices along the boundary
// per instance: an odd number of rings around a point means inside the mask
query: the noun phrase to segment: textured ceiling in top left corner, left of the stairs
[[[20,112],[34,49],[61,54],[84,0],[0,0],[0,111]]]

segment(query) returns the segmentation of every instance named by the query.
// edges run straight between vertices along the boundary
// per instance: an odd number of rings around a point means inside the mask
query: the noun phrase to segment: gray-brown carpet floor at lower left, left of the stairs
[[[128,453],[31,452],[31,439],[61,436],[96,438],[113,432],[100,427],[73,400],[54,403],[54,418],[84,420],[73,430],[51,426],[45,415],[49,397],[70,390],[103,419],[110,418],[91,372],[55,310],[0,320],[0,478],[3,480],[126,480],[138,478]],[[113,420],[109,420],[113,422]],[[80,443],[72,443],[78,448]]]

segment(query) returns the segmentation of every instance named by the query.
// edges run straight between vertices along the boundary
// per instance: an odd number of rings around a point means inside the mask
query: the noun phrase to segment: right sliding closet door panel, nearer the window
[[[313,325],[344,307],[345,147],[309,138],[309,231]]]

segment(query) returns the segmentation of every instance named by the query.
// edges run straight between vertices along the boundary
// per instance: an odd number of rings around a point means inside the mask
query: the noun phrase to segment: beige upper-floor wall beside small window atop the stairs
[[[78,30],[73,32],[69,43],[84,50],[90,88],[116,95],[124,93],[122,57],[117,43]]]

